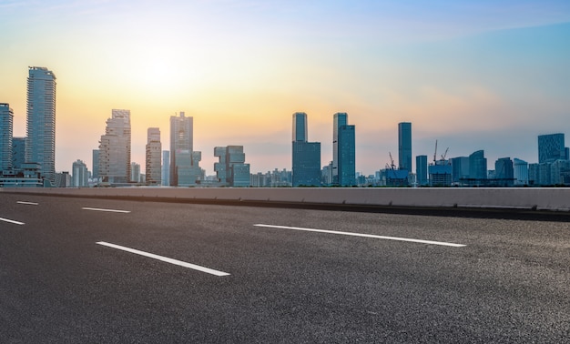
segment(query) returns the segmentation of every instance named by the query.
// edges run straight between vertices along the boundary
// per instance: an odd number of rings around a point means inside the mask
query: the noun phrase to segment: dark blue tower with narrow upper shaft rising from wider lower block
[[[307,114],[293,114],[293,187],[321,186],[321,142],[307,142]]]

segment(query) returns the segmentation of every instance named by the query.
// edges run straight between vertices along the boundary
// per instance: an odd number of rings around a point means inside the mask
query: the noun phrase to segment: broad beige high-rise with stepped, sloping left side
[[[114,109],[99,144],[99,177],[104,183],[131,180],[130,147],[130,110]]]

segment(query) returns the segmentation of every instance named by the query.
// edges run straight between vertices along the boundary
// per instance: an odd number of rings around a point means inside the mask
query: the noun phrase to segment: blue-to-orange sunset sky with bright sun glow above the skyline
[[[308,114],[321,164],[332,116],[356,126],[356,170],[398,157],[483,149],[537,162],[537,136],[570,146],[570,1],[0,0],[0,103],[25,137],[28,66],[57,77],[56,171],[131,111],[131,161],[145,169],[147,128],[169,149],[169,117],[194,117],[194,149],[244,146],[250,171],[291,168],[292,114]],[[396,164],[398,162],[396,161]],[[413,161],[415,166],[415,160]]]

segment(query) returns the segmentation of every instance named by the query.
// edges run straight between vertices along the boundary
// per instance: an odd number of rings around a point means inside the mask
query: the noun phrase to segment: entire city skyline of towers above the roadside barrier
[[[92,171],[77,159],[69,172],[56,173],[56,76],[46,67],[28,68],[26,137],[14,137],[14,111],[0,103],[0,187],[544,187],[570,185],[570,153],[564,134],[538,136],[538,163],[510,157],[487,169],[483,150],[468,157],[433,160],[415,157],[412,172],[412,123],[398,124],[398,165],[390,163],[364,176],[356,172],[356,130],[348,114],[332,116],[332,160],[321,166],[321,143],[310,142],[308,116],[292,115],[291,170],[251,173],[243,146],[214,147],[215,176],[200,167],[194,150],[192,116],[170,116],[169,150],[163,150],[158,127],[149,127],[145,173],[131,161],[131,113],[112,109],[99,146],[92,151]]]

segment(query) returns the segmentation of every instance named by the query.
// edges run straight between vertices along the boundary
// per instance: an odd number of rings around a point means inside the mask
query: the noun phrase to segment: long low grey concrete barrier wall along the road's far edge
[[[5,192],[78,197],[160,197],[179,200],[307,202],[401,207],[508,207],[570,210],[570,188],[4,188]]]

